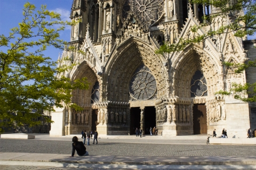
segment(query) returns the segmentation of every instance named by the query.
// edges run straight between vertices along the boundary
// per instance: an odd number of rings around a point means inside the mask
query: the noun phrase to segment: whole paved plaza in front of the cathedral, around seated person
[[[74,158],[69,158],[74,135],[35,135],[0,139],[0,169],[256,169],[255,145],[206,145],[206,135],[102,136],[98,145],[93,139],[86,145],[89,156]]]

